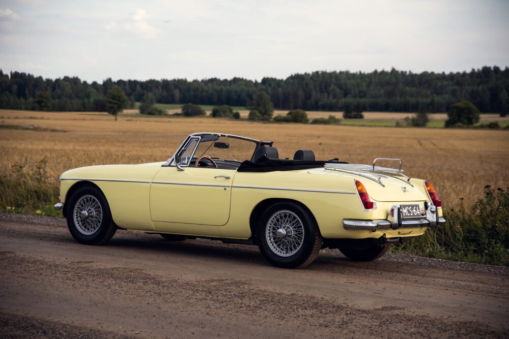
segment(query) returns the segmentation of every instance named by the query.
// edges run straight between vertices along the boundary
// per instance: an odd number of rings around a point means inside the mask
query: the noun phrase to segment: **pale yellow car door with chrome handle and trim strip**
[[[179,171],[174,166],[163,167],[153,178],[150,189],[155,230],[168,232],[168,225],[160,222],[226,224],[235,173],[232,169],[186,167]]]

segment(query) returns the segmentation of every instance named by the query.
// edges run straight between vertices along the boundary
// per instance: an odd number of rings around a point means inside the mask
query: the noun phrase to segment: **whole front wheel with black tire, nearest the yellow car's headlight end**
[[[89,207],[86,207],[87,203],[89,203]],[[101,245],[115,235],[117,226],[111,218],[108,202],[97,187],[83,186],[79,188],[67,204],[67,227],[77,242],[86,245]],[[80,210],[87,212],[84,219],[80,217]]]

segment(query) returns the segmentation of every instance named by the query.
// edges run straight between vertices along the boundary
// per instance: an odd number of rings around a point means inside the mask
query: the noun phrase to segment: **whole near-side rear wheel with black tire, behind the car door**
[[[285,222],[274,223],[276,218],[279,216],[285,218],[285,215],[293,218],[290,220],[294,220],[297,226],[290,227],[290,225],[285,225]],[[295,216],[297,219],[295,219]],[[300,221],[300,224],[298,221]],[[288,227],[288,233],[285,231],[285,234],[281,235],[284,238],[276,236],[277,232],[274,232],[274,230],[279,227],[277,225],[283,229]],[[257,229],[257,238],[260,252],[264,258],[272,265],[281,268],[309,265],[320,253],[323,243],[318,224],[313,215],[299,204],[292,202],[275,203],[263,213]],[[269,239],[272,239],[272,241]],[[295,245],[292,250],[287,248],[287,253],[283,253],[285,252],[284,241],[295,241],[294,244],[300,244],[300,248]]]

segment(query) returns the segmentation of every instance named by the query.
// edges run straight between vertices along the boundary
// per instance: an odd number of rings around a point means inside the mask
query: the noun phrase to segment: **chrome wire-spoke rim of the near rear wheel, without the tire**
[[[290,257],[304,243],[304,224],[290,210],[277,211],[267,221],[265,238],[272,252],[281,257]]]

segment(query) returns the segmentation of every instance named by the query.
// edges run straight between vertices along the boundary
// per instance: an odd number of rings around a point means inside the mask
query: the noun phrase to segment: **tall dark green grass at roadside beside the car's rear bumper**
[[[444,210],[444,227],[405,242],[393,251],[431,258],[509,266],[509,192],[490,186],[473,205]]]

